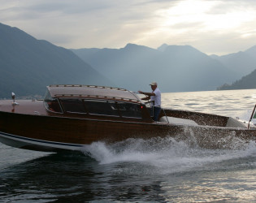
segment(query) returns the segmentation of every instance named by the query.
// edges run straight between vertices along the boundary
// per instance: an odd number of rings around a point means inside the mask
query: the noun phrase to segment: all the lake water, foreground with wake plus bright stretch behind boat
[[[249,119],[256,89],[163,93],[163,107]],[[256,145],[212,150],[171,138],[98,142],[84,154],[0,144],[0,202],[256,202]]]

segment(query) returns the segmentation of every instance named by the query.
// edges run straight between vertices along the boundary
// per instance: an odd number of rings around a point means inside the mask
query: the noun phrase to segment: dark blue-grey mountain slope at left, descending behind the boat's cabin
[[[48,84],[111,84],[71,50],[0,24],[0,97],[43,95]]]

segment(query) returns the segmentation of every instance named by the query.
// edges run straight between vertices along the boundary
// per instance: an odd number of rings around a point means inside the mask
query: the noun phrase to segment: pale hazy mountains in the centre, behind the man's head
[[[128,44],[122,49],[72,50],[115,84],[150,89],[157,81],[163,92],[214,90],[237,78],[218,60],[189,45],[162,45],[158,50]]]

